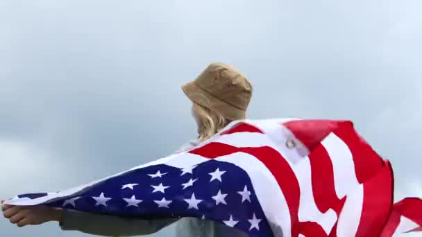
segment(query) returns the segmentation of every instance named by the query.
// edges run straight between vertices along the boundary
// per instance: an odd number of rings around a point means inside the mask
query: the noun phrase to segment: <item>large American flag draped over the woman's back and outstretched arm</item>
[[[350,121],[230,123],[199,146],[56,193],[6,204],[133,218],[196,217],[249,236],[422,231],[422,200],[394,204],[394,177]]]

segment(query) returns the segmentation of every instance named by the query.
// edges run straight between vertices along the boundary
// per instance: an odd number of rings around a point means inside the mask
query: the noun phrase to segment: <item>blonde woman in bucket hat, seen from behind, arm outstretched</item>
[[[192,114],[198,125],[198,139],[190,141],[178,152],[194,148],[199,142],[212,137],[230,121],[245,119],[252,96],[252,86],[236,69],[227,64],[210,64],[196,80],[182,87],[192,100]],[[1,201],[1,203],[3,203]],[[77,230],[101,236],[135,236],[153,234],[177,222],[180,237],[237,237],[247,236],[212,220],[197,218],[166,218],[140,220],[85,213],[50,207],[17,207],[2,204],[3,216],[18,227],[58,221],[63,230]]]

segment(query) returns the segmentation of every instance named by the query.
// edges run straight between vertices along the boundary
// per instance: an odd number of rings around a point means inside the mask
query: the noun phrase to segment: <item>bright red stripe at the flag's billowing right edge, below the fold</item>
[[[394,177],[389,162],[363,186],[364,200],[356,236],[380,236],[393,207]]]

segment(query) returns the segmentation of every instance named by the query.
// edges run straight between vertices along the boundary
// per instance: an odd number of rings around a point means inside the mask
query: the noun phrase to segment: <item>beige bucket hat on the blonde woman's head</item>
[[[245,119],[252,85],[228,64],[212,63],[192,82],[182,86],[192,102],[222,114],[231,121]]]

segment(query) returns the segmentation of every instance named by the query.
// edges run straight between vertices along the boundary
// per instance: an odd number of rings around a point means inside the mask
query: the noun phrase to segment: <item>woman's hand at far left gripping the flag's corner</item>
[[[3,204],[1,200],[1,210],[3,216],[18,227],[25,225],[40,225],[44,222],[62,220],[62,209],[45,206],[12,206]]]

